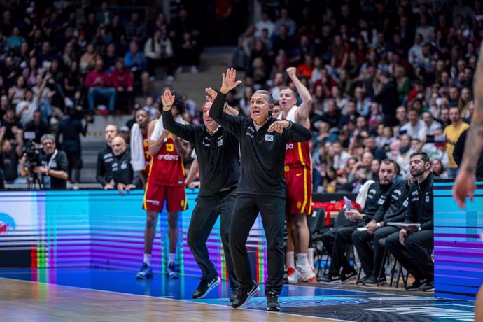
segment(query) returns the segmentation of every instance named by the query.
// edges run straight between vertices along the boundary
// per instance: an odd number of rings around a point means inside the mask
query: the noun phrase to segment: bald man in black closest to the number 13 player
[[[139,176],[134,175],[131,165],[131,154],[127,150],[127,144],[123,137],[115,137],[112,140],[113,149],[112,175],[120,195],[141,186]]]

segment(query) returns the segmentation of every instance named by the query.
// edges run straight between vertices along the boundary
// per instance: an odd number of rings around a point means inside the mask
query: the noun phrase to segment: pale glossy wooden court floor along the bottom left
[[[300,321],[301,316],[0,278],[0,321]],[[304,321],[337,321],[303,316]]]

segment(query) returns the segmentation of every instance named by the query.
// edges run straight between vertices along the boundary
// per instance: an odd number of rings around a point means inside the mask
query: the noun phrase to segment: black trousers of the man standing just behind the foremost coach
[[[195,256],[195,260],[203,272],[202,279],[211,281],[218,273],[213,262],[209,260],[207,239],[213,226],[220,216],[220,236],[225,252],[226,266],[230,277],[230,288],[238,287],[238,281],[233,268],[230,254],[229,232],[232,222],[233,207],[235,205],[235,188],[223,191],[214,196],[198,196],[196,207],[191,216],[188,228],[188,246]]]

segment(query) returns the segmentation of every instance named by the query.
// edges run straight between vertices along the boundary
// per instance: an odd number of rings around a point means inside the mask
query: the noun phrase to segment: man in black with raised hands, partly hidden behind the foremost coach
[[[216,92],[207,89],[209,94]],[[234,134],[223,129],[209,116],[211,98],[203,106],[204,125],[184,125],[176,123],[170,111],[171,92],[167,90],[162,96],[162,121],[166,130],[176,137],[190,141],[195,146],[197,162],[200,166],[200,193],[196,199],[196,207],[191,216],[188,228],[188,246],[202,270],[200,285],[193,293],[193,298],[202,298],[220,283],[213,262],[209,260],[207,239],[220,216],[220,236],[225,252],[230,288],[231,302],[235,300],[239,283],[230,254],[228,234],[235,204],[235,189],[240,176],[239,143]],[[238,113],[228,107],[227,113]]]

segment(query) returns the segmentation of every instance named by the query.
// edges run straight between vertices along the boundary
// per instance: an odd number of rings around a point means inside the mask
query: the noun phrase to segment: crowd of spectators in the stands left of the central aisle
[[[25,182],[18,165],[24,143],[30,144],[25,132],[34,132],[36,147],[44,134],[55,134],[77,188],[80,135],[86,134],[92,114],[130,113],[135,97],[147,97],[146,106],[156,117],[148,97],[156,67],[165,69],[168,84],[176,73],[198,72],[200,31],[186,7],[173,3],[168,23],[161,10],[151,12],[147,4],[71,0],[1,5],[0,177],[6,183]]]

